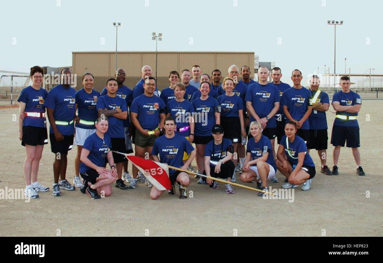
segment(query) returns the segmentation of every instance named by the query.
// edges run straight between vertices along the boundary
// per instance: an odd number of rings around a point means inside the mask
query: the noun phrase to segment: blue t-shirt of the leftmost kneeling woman
[[[109,150],[112,149],[112,143],[110,137],[104,134],[104,139],[98,137],[97,133],[93,133],[85,139],[83,149],[89,150],[88,159],[99,167],[104,167],[106,162],[106,154]],[[86,172],[89,169],[92,169],[85,165],[85,163],[80,163],[80,173]]]

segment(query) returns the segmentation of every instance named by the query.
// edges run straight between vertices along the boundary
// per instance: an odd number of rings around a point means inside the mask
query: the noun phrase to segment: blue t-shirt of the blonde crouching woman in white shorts
[[[250,138],[247,142],[246,152],[251,154],[251,160],[258,159],[262,157],[262,154],[268,152],[266,162],[274,168],[275,172],[277,172],[277,165],[275,165],[273,157],[273,148],[271,147],[270,139],[266,136],[262,135],[258,142],[255,142],[254,138]],[[252,166],[257,166],[257,164]]]

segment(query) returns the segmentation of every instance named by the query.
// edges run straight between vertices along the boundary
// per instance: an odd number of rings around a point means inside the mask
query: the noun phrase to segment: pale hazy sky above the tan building
[[[72,51],[252,51],[259,60],[303,76],[324,65],[337,73],[383,72],[381,10],[376,0],[18,0],[2,1],[0,70],[72,65]],[[105,38],[105,44],[102,44]],[[190,44],[193,38],[193,44]],[[195,63],[198,63],[196,61]],[[209,69],[210,70],[210,69]]]

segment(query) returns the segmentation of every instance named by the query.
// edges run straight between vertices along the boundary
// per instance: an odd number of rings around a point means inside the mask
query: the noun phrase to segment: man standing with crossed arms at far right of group
[[[334,145],[334,167],[332,174],[338,175],[338,159],[340,147],[344,147],[347,140],[347,147],[351,147],[352,155],[354,155],[357,164],[357,174],[365,175],[360,166],[360,140],[359,140],[359,124],[357,120],[358,112],[362,107],[360,96],[350,90],[350,78],[343,76],[340,78],[340,87],[342,90],[332,96],[332,107],[336,110],[336,116],[331,132],[331,144]]]

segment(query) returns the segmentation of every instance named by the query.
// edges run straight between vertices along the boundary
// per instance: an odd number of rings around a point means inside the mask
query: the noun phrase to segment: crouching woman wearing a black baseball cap
[[[208,142],[205,147],[205,170],[203,174],[231,182],[231,177],[236,168],[232,161],[234,146],[230,139],[223,138],[223,127],[221,125],[214,125],[211,133],[214,140]],[[217,181],[213,182],[213,180],[206,178],[206,182],[211,188],[218,188]],[[228,194],[234,193],[230,184],[225,184],[225,191]]]

